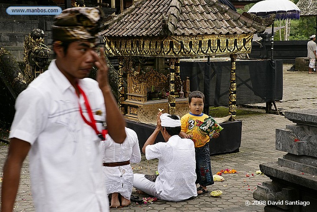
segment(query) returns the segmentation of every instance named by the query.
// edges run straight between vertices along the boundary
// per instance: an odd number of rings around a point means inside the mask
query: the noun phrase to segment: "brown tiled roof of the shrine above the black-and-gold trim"
[[[239,14],[217,0],[140,0],[105,23],[104,36],[261,33],[268,19]]]

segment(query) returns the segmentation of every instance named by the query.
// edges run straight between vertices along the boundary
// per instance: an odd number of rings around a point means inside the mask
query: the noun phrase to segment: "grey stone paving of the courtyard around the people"
[[[276,105],[281,111],[300,108],[317,108],[317,74],[308,75],[307,72],[288,72],[291,65],[283,66],[284,95],[281,102]],[[265,107],[265,103],[252,104],[253,107]],[[111,211],[215,211],[215,212],[263,212],[263,205],[252,205],[255,201],[252,197],[257,185],[269,180],[265,175],[254,175],[259,170],[259,164],[277,161],[284,152],[275,149],[275,129],[284,128],[291,122],[283,116],[265,114],[263,109],[243,108],[254,110],[259,113],[253,115],[239,115],[237,120],[242,120],[242,141],[238,153],[221,154],[210,156],[213,174],[221,169],[236,169],[236,174],[223,174],[225,181],[216,181],[208,186],[209,191],[222,190],[219,197],[212,197],[209,193],[199,195],[197,198],[182,202],[167,202],[158,200],[152,204],[136,205],[130,207],[111,209]],[[211,114],[212,115],[212,114]],[[220,135],[221,136],[221,135]],[[8,151],[8,145],[0,146],[0,167],[3,168],[4,160]],[[142,155],[139,164],[133,164],[135,173],[155,174],[157,160],[147,161]],[[249,177],[246,174],[250,175]],[[1,187],[1,183],[0,183]],[[133,189],[133,195],[138,195]],[[249,202],[248,202],[249,201]],[[250,203],[251,205],[246,205]],[[35,211],[30,188],[28,158],[23,164],[20,187],[16,198],[14,211]]]

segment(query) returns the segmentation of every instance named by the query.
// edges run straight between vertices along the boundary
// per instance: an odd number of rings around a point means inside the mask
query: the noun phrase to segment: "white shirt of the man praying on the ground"
[[[197,196],[195,147],[192,140],[173,135],[167,142],[146,146],[145,156],[147,160],[159,159],[155,189],[160,198],[182,201]]]

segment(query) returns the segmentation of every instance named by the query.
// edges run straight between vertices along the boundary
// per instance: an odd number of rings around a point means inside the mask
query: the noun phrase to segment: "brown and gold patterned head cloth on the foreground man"
[[[102,12],[94,7],[72,7],[55,17],[53,40],[62,42],[89,41],[98,38]]]

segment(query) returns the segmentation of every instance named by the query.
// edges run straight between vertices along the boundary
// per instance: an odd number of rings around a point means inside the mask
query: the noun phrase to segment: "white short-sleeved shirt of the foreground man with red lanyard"
[[[95,120],[105,120],[104,98],[98,83],[81,79]],[[10,138],[31,144],[32,195],[36,211],[109,211],[102,180],[100,139],[79,112],[82,95],[59,71],[55,60],[16,100]],[[102,115],[95,115],[96,111]],[[102,124],[97,126],[101,130]]]

